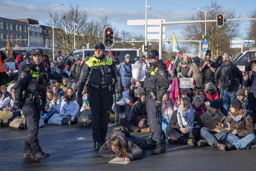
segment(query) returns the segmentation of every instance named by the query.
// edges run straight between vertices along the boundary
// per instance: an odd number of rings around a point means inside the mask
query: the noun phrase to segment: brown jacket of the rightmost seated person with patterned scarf
[[[246,110],[244,110],[244,112],[246,112]],[[244,137],[248,134],[254,133],[253,120],[249,114],[246,114],[246,116],[240,119],[240,121],[234,121],[234,119],[230,116],[229,111],[224,122],[230,124],[230,130],[225,129],[222,126],[220,127],[220,129],[227,132],[232,132],[234,129],[237,129],[237,135],[239,137]]]

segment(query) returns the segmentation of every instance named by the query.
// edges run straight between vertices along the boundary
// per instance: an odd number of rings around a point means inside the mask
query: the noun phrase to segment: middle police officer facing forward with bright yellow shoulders
[[[89,93],[88,100],[92,111],[92,137],[96,149],[101,148],[106,141],[109,111],[113,103],[112,93],[115,92],[115,88],[112,86],[112,78],[115,79],[118,88],[118,101],[122,99],[120,73],[115,62],[104,56],[104,51],[105,46],[102,43],[97,43],[94,55],[83,64],[78,81],[77,103],[82,106],[82,91],[86,80],[89,79],[87,92]]]

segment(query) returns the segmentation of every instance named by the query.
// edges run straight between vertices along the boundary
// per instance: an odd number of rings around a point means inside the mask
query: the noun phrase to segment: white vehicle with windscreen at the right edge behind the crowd
[[[255,55],[256,55],[256,49],[253,48],[252,50],[246,50],[243,53],[239,52],[234,57],[234,63],[242,71],[243,74],[244,74],[245,64],[249,60],[249,54],[250,53],[255,53]]]

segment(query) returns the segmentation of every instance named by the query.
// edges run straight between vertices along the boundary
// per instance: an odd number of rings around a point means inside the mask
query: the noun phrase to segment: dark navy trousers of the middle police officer
[[[92,89],[89,92],[88,101],[92,111],[93,141],[105,142],[113,95],[107,89]]]

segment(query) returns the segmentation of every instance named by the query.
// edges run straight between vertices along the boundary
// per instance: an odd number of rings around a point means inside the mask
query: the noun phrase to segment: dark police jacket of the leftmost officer
[[[37,66],[41,69],[37,70],[36,69]],[[19,78],[15,83],[15,100],[16,101],[21,101],[23,90],[27,90],[29,93],[41,96],[42,102],[46,103],[46,76],[39,77],[39,75],[42,72],[44,72],[43,70],[44,70],[44,66],[42,63],[40,63],[39,65],[36,65],[34,63],[24,65],[24,68],[20,72]],[[39,84],[36,82],[37,77],[43,79],[43,80],[40,80]],[[43,82],[45,82],[45,85],[40,86],[42,85],[41,83]]]

